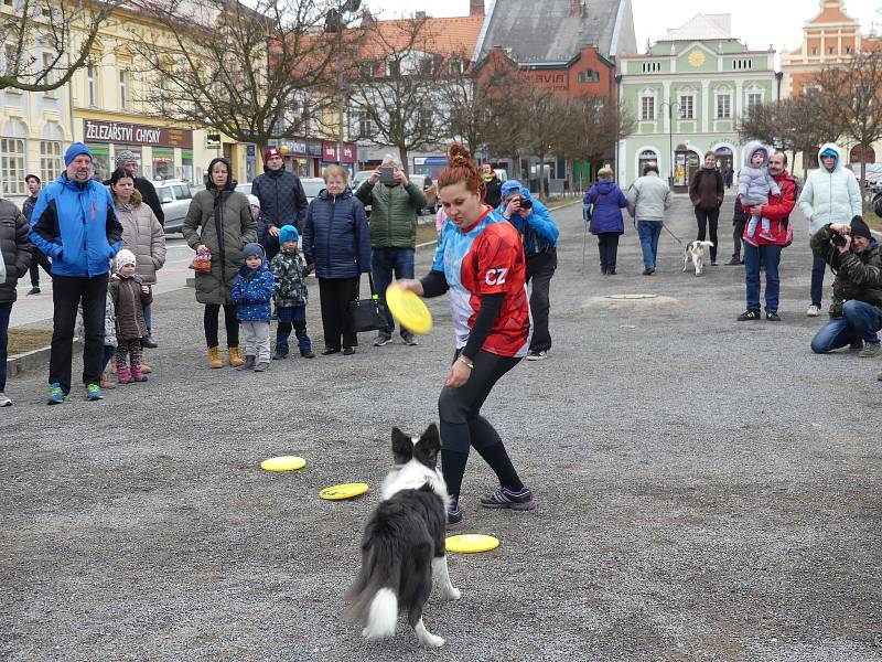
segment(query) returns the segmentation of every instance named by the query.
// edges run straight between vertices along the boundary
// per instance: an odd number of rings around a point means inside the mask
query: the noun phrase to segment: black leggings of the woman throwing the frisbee
[[[458,351],[454,361],[460,355]],[[499,378],[520,362],[514,356],[498,356],[481,350],[474,360],[469,381],[459,388],[445,386],[438,398],[441,419],[441,470],[448,492],[455,503],[460,498],[462,477],[471,447],[484,458],[499,479],[499,484],[512,491],[524,488],[503,440],[496,429],[481,416],[481,407]]]

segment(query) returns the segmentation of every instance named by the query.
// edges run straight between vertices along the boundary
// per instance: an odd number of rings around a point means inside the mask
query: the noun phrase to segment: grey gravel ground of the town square
[[[579,206],[556,213],[555,348],[498,384],[485,414],[539,501],[482,511],[502,545],[452,555],[459,602],[432,598],[419,649],[342,620],[358,542],[389,468],[394,425],[437,418],[452,352],[447,300],[419,348],[205,367],[192,290],[154,305],[150,382],[89,404],[43,404],[44,374],[10,383],[0,416],[0,656],[8,660],[882,659],[882,362],[815,356],[805,234],[784,255],[784,322],[738,323],[743,270],[681,274],[662,235],[641,275],[636,233],[599,274]],[[802,231],[805,221],[794,221]],[[688,201],[670,227],[691,238]],[[723,221],[721,261],[730,250]],[[430,253],[419,256],[418,271]],[[829,277],[828,277],[829,278]],[[657,299],[612,301],[610,293]],[[309,308],[321,348],[318,291]],[[78,372],[78,369],[77,371]],[[305,469],[263,472],[297,453]],[[320,489],[372,491],[325,502]],[[404,622],[404,621],[402,621]]]

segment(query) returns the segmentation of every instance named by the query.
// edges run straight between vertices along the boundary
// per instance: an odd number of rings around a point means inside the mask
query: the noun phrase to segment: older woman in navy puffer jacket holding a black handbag
[[[319,277],[324,328],[322,354],[354,354],[358,337],[352,329],[349,301],[358,298],[358,279],[370,271],[370,231],[362,202],[346,185],[340,166],[324,171],[326,189],[310,203],[303,228],[306,267]]]

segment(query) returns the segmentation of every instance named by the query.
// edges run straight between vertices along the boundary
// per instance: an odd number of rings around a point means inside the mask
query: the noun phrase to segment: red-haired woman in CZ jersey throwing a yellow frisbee
[[[460,487],[472,447],[499,479],[499,490],[482,498],[481,505],[536,508],[498,433],[481,416],[496,382],[527,355],[533,330],[520,236],[482,202],[484,186],[469,151],[452,145],[448,167],[438,175],[449,221],[432,270],[421,280],[397,281],[427,298],[450,291],[456,352],[438,398],[441,469],[451,496],[448,524],[462,522]]]

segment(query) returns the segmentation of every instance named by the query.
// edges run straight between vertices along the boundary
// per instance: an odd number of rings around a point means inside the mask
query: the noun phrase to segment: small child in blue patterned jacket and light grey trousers
[[[229,298],[236,303],[236,318],[245,337],[245,363],[236,370],[263,372],[269,367],[270,301],[275,279],[260,244],[246,244],[241,250],[245,266],[233,280]]]

